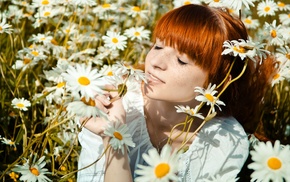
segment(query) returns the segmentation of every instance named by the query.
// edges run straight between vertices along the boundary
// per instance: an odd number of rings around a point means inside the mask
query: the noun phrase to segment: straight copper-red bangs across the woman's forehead
[[[153,37],[187,54],[197,65],[208,70],[209,58],[222,52],[226,32],[222,22],[207,7],[186,5],[163,16],[157,23]],[[220,57],[220,55],[219,55]]]

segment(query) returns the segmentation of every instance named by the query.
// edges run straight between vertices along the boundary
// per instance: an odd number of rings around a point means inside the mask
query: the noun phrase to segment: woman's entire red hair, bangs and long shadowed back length
[[[185,5],[169,11],[158,21],[154,38],[165,41],[179,52],[187,54],[195,64],[208,72],[207,82],[219,85],[229,71],[235,57],[221,55],[226,40],[248,39],[242,21],[231,16],[225,8]],[[239,57],[231,71],[235,78],[244,61]],[[259,64],[258,64],[259,65]],[[220,99],[225,102],[219,115],[233,115],[247,131],[252,132],[258,121],[253,121],[263,97],[263,90],[273,71],[271,61],[255,66],[249,61],[243,76],[233,82]],[[256,118],[257,120],[257,118]]]

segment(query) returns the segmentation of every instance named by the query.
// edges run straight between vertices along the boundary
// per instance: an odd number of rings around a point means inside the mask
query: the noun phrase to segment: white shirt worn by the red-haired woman
[[[126,122],[136,146],[128,152],[133,178],[137,164],[146,164],[142,154],[153,148],[144,118],[144,103],[140,84],[123,98]],[[102,138],[83,128],[79,134],[82,146],[79,169],[90,165],[102,154]],[[249,141],[243,127],[233,117],[216,117],[198,132],[189,149],[181,154],[178,171],[180,182],[204,181],[223,176],[234,179],[249,154]],[[104,181],[103,156],[97,163],[78,172],[78,182]],[[117,172],[116,172],[117,174]]]

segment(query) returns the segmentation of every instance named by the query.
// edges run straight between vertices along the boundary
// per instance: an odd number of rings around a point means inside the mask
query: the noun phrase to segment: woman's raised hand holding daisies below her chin
[[[97,95],[95,98],[96,107],[108,114],[108,120],[101,117],[82,118],[80,121],[84,124],[84,127],[102,136],[110,122],[120,121],[125,123],[125,109],[122,104],[122,98],[118,97],[117,91],[106,92],[104,95]]]

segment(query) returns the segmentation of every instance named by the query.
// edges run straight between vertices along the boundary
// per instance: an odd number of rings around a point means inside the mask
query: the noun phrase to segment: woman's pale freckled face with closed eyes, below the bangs
[[[147,54],[145,73],[146,96],[170,102],[191,102],[196,96],[195,87],[203,87],[207,79],[207,72],[186,54],[165,46],[158,39]]]

